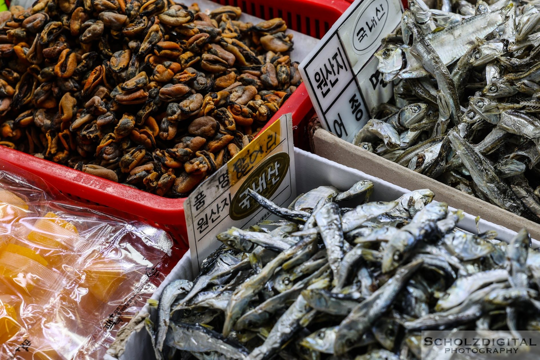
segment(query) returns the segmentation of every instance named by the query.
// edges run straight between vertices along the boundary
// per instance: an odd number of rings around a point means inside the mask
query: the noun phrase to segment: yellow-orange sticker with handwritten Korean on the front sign
[[[281,119],[275,121],[262,134],[253,139],[245,148],[234,155],[234,158],[227,162],[229,180],[231,185],[234,185],[242,177],[253,170],[266,154],[271,152],[281,142]]]

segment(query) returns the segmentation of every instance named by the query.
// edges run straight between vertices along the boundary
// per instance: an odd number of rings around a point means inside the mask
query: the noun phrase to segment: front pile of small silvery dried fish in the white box
[[[145,321],[158,359],[412,360],[423,329],[540,330],[540,252],[527,231],[507,246],[458,230],[461,210],[429,189],[334,202],[372,190],[321,186],[289,208],[252,192],[284,220],[219,234],[197,279],[164,289],[156,323]]]

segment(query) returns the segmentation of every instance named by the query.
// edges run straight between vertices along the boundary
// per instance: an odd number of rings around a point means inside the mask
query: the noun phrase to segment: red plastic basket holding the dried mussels
[[[242,11],[264,19],[282,17],[289,28],[317,38],[325,35],[330,26],[349,6],[345,0],[274,0],[273,2],[218,0],[216,2],[240,6]],[[293,126],[298,126],[300,121],[312,111],[313,106],[306,87],[301,84],[268,121],[266,127],[288,112],[293,114]],[[185,199],[162,198],[4,146],[0,146],[0,158],[37,174],[71,199],[108,206],[119,212],[137,215],[138,218],[145,219],[151,225],[166,230],[179,246],[188,248],[184,217]]]

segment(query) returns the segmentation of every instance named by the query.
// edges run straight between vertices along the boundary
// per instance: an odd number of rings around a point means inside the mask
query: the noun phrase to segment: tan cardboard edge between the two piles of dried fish
[[[462,209],[469,214],[480,215],[484,220],[516,232],[526,228],[533,239],[540,239],[540,224],[370,153],[322,128],[317,128],[313,133],[313,151],[323,158],[358,169],[409,190],[429,188],[435,193],[437,201],[446,202],[449,206]]]

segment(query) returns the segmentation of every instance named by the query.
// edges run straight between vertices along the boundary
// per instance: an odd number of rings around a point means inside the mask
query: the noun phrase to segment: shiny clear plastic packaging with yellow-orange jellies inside
[[[0,160],[1,360],[103,358],[172,254],[164,230],[126,219]]]

